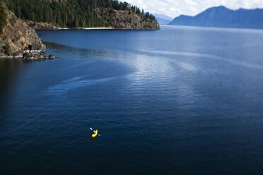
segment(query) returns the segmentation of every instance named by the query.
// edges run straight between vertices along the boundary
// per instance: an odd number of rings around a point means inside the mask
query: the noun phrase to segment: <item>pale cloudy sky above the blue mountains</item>
[[[195,16],[213,6],[231,9],[263,8],[263,0],[126,0],[129,4],[144,8],[144,11],[175,18],[180,15]]]

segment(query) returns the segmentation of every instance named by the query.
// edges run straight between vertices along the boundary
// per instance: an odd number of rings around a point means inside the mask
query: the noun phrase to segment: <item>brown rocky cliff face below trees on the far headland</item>
[[[129,11],[117,11],[111,8],[96,8],[94,10],[98,18],[104,19],[111,28],[136,29],[136,30],[157,30],[160,29],[156,20]]]

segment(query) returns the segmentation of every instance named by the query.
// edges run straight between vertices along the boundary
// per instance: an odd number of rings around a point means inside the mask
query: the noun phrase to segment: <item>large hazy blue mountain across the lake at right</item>
[[[263,28],[263,8],[236,11],[224,6],[212,7],[197,16],[181,15],[169,25],[192,25],[222,28]]]

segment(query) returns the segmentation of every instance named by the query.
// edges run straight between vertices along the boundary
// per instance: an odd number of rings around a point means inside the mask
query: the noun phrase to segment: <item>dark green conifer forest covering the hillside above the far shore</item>
[[[52,23],[63,28],[108,27],[109,21],[98,18],[95,8],[112,8],[129,11],[155,20],[149,13],[127,2],[114,0],[4,0],[18,18],[34,22]],[[110,15],[110,14],[109,14]]]

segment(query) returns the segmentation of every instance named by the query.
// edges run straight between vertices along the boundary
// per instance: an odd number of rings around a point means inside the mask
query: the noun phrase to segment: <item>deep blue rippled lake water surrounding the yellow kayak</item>
[[[37,33],[59,59],[0,60],[0,174],[263,174],[263,30]]]

